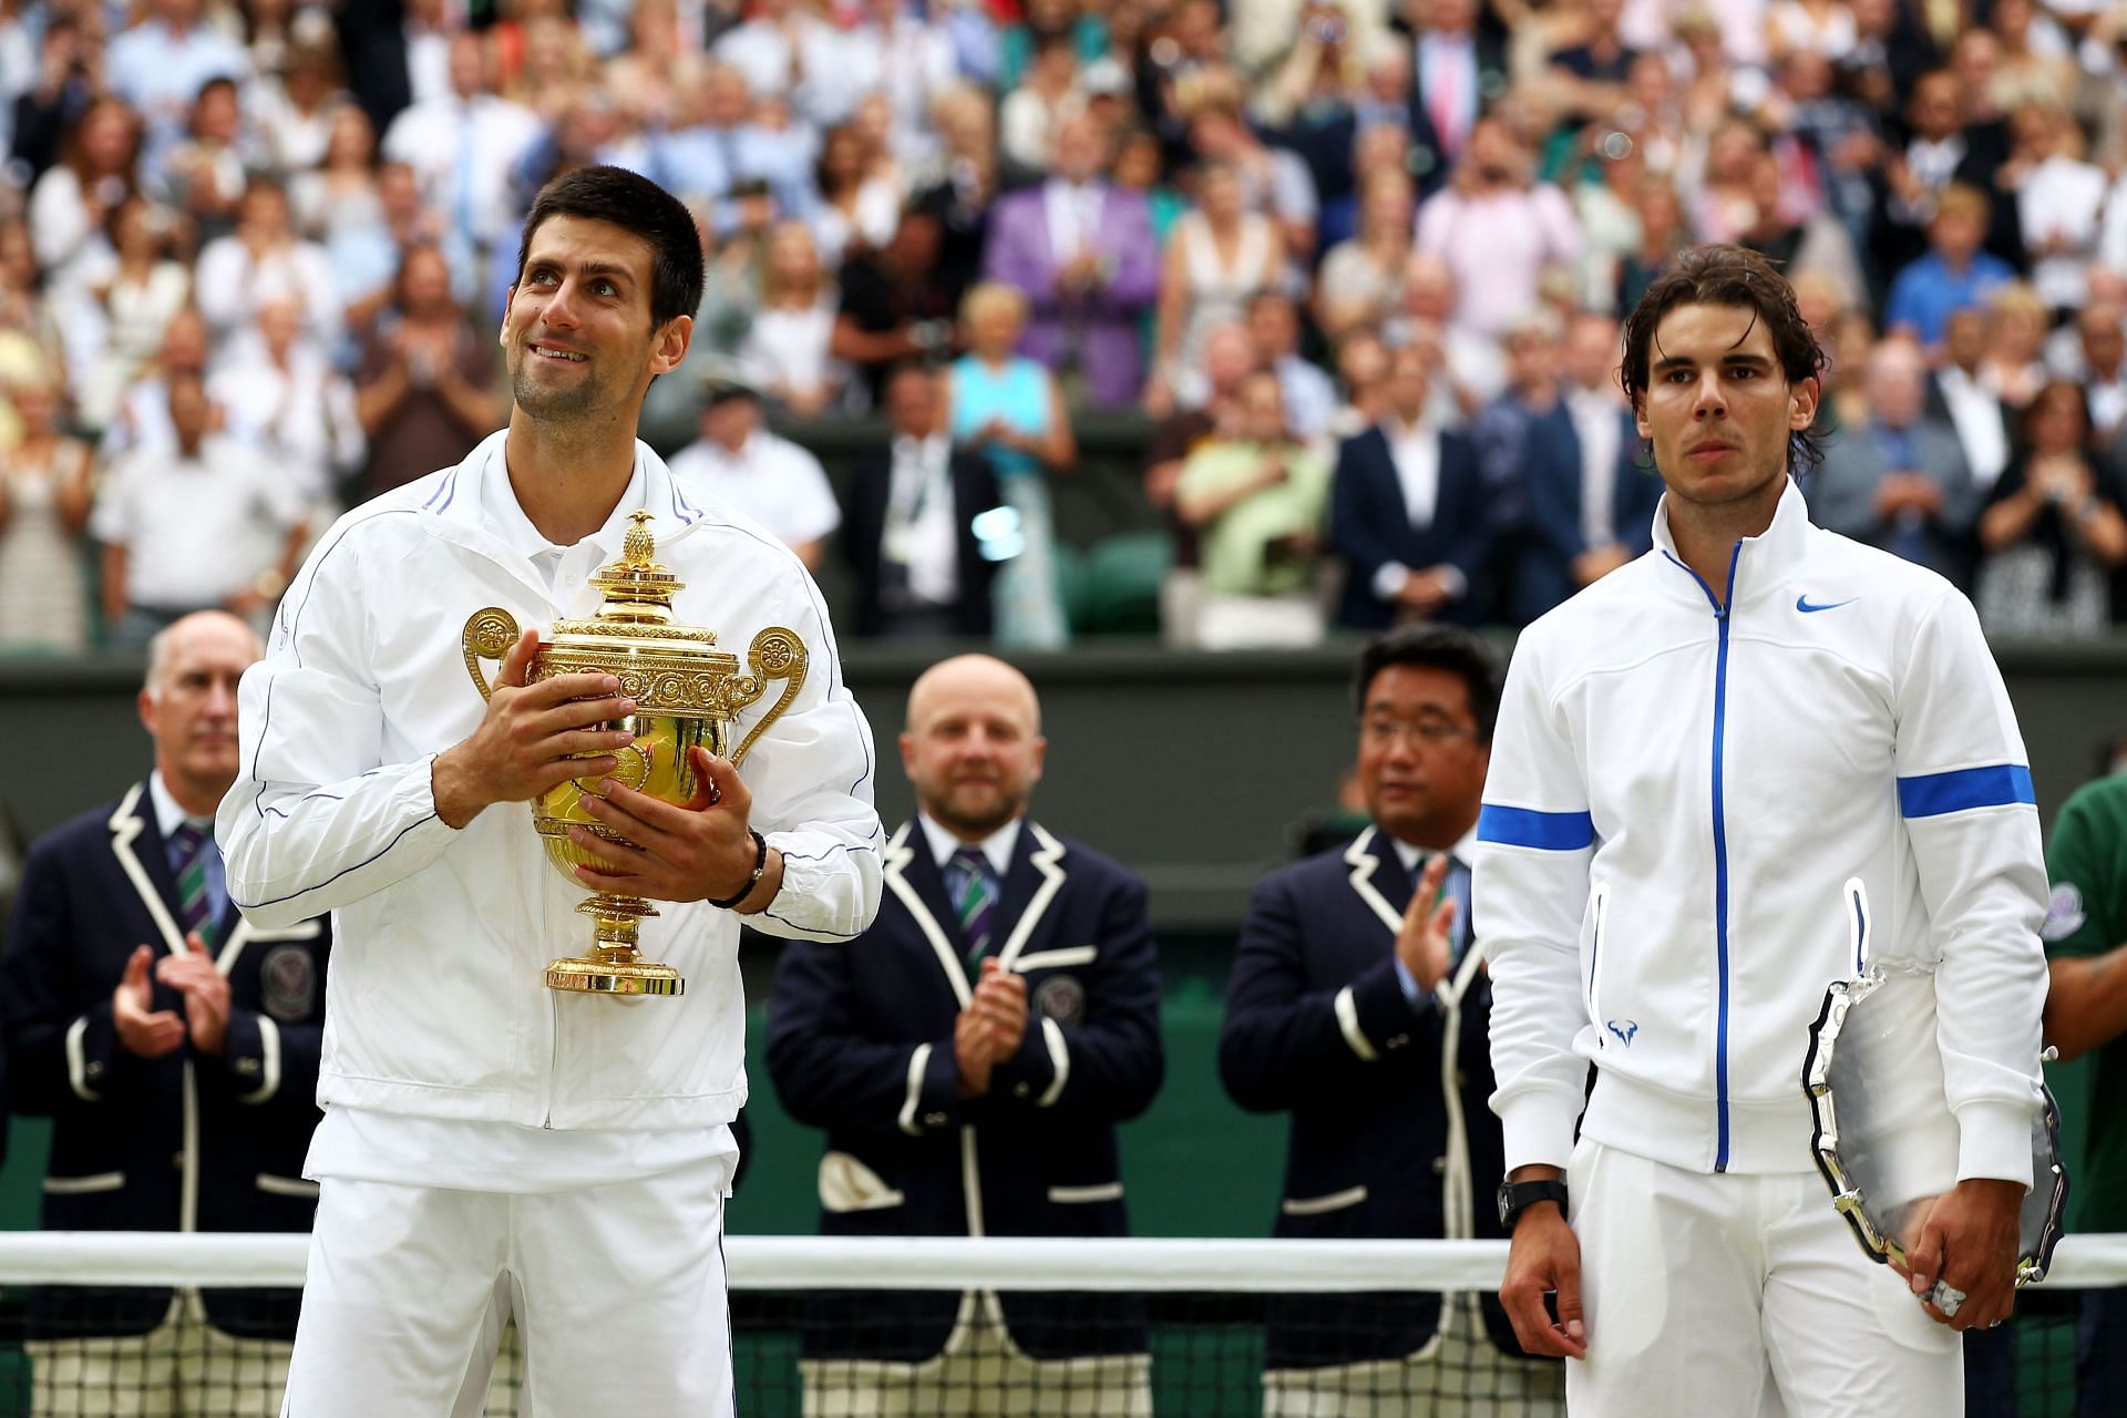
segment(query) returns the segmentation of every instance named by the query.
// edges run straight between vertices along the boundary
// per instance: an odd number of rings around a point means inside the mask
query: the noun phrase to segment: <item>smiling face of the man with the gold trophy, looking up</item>
[[[634,410],[687,353],[693,321],[651,321],[651,244],[589,217],[549,217],[502,315],[517,408],[574,421]],[[632,412],[630,412],[632,419]]]

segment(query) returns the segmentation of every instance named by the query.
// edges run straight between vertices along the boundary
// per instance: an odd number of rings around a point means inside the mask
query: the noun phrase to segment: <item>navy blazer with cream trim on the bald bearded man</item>
[[[887,844],[872,929],[789,942],[768,1001],[768,1076],[783,1108],[827,1131],[823,1235],[1125,1235],[1115,1127],[1163,1076],[1159,969],[1144,882],[1025,821],[993,923],[1027,982],[1019,1054],[959,1097],[953,1020],[970,997],[959,927],[923,831]],[[923,1361],[966,1305],[951,1293],[819,1301],[804,1352]],[[1144,1352],[1136,1297],[1004,1293],[1036,1358]]]

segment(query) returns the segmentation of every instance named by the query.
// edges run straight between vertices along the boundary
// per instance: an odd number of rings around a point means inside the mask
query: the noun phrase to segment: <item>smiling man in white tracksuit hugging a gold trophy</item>
[[[666,191],[549,183],[508,429],[342,517],[245,676],[230,895],[342,942],[287,1414],[476,1414],[508,1318],[525,1414],[732,1412],[736,916],[855,938],[881,827],[804,568],[636,440],[700,296]]]

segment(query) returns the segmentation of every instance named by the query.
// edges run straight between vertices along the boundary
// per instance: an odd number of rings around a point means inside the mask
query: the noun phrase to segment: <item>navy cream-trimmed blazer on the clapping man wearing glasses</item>
[[[1491,980],[1472,948],[1412,1006],[1395,976],[1410,891],[1376,827],[1255,887],[1227,980],[1219,1078],[1242,1108],[1291,1114],[1274,1235],[1500,1235]],[[1487,1293],[1483,1305],[1493,1339],[1519,1354],[1497,1299]],[[1438,1329],[1438,1295],[1276,1297],[1263,1367],[1404,1358]]]

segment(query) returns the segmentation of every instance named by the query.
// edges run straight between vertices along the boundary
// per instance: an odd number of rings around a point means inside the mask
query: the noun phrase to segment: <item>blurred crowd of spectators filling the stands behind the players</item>
[[[600,162],[708,251],[647,429],[861,634],[1066,644],[1102,419],[1174,644],[1527,623],[1648,546],[1617,321],[1693,242],[1833,355],[1821,523],[2127,621],[2116,0],[0,0],[0,149],[4,653],[268,612],[498,429]]]

